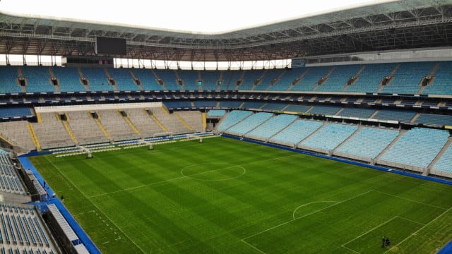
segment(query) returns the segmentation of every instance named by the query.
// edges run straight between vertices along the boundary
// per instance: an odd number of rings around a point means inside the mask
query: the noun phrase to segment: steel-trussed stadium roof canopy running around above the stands
[[[220,34],[0,13],[0,54],[94,55],[95,37],[127,41],[133,59],[251,61],[450,47],[452,0],[359,6]]]

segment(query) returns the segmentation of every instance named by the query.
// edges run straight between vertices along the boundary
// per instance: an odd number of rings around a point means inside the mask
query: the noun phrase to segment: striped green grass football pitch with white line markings
[[[228,138],[154,148],[30,160],[102,253],[436,253],[452,238],[452,186]]]

